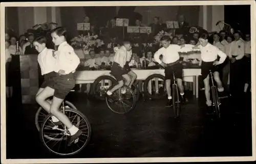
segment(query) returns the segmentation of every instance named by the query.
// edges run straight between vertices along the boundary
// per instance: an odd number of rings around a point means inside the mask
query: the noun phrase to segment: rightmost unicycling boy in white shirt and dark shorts
[[[204,81],[206,104],[209,110],[212,110],[210,100],[209,70],[211,70],[211,72],[214,74],[214,79],[217,83],[218,91],[223,92],[224,88],[222,87],[218,65],[222,64],[227,56],[218,47],[208,43],[207,34],[202,34],[202,36],[199,38],[199,41],[200,45],[197,47],[201,51],[201,74]],[[217,61],[218,56],[220,56],[219,61]]]

